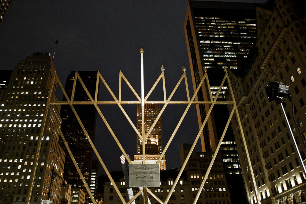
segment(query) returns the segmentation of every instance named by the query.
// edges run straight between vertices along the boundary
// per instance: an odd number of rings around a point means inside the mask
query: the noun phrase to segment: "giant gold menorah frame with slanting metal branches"
[[[141,53],[141,60],[142,60],[142,69],[143,69],[143,52]],[[181,78],[179,79],[179,81],[177,82],[176,86],[174,87],[173,91],[171,92],[170,96],[167,98],[166,97],[166,86],[165,86],[165,73],[164,73],[164,69],[162,67],[162,73],[161,75],[159,76],[159,78],[156,80],[156,82],[154,83],[154,85],[152,86],[152,88],[150,89],[150,91],[147,93],[146,97],[144,97],[144,95],[142,94],[142,96],[140,97],[136,91],[133,89],[133,87],[131,86],[131,84],[129,83],[129,81],[125,78],[125,76],[123,75],[123,73],[120,71],[119,73],[119,94],[118,94],[118,98],[114,95],[114,93],[112,92],[112,90],[110,89],[110,87],[107,85],[105,79],[102,77],[102,75],[100,74],[100,72],[97,73],[97,81],[96,81],[96,89],[95,89],[95,96],[94,98],[90,95],[88,89],[86,88],[86,86],[84,85],[82,79],[80,78],[80,75],[77,73],[75,73],[75,77],[74,77],[74,83],[73,83],[73,89],[72,89],[72,95],[71,95],[71,98],[68,97],[64,87],[62,86],[62,83],[60,82],[57,74],[55,73],[54,74],[54,78],[52,79],[52,87],[50,89],[50,93],[49,93],[49,97],[48,97],[48,101],[47,101],[47,107],[46,107],[46,114],[44,115],[44,118],[43,118],[43,125],[42,125],[42,131],[40,133],[40,137],[39,137],[39,144],[38,144],[38,149],[37,149],[37,154],[35,156],[35,164],[37,164],[38,162],[38,158],[39,158],[39,151],[40,151],[40,148],[41,148],[41,141],[42,141],[42,138],[43,138],[43,133],[44,133],[44,129],[45,129],[45,126],[46,126],[46,123],[47,123],[47,118],[48,117],[51,117],[51,118],[54,118],[54,121],[57,121],[55,120],[55,115],[54,115],[54,112],[52,111],[52,105],[69,105],[74,113],[74,115],[76,116],[77,118],[77,121],[79,122],[81,128],[83,129],[84,131],[84,134],[88,140],[88,142],[90,143],[91,145],[91,148],[93,149],[95,155],[97,156],[100,164],[102,165],[104,171],[106,172],[108,178],[110,179],[110,182],[112,182],[113,186],[114,186],[114,189],[115,191],[117,192],[121,202],[123,204],[130,204],[132,201],[134,201],[138,196],[140,196],[140,194],[142,192],[144,192],[144,203],[147,204],[147,195],[151,195],[153,198],[155,198],[158,202],[162,203],[162,204],[167,204],[170,200],[170,196],[172,195],[173,191],[174,191],[174,188],[175,186],[177,185],[178,181],[179,181],[179,178],[181,177],[181,174],[183,172],[183,170],[185,169],[185,166],[187,165],[187,162],[188,162],[188,159],[190,158],[190,155],[192,154],[192,151],[194,150],[195,146],[196,146],[196,143],[197,141],[199,140],[200,138],[200,134],[201,132],[203,131],[203,128],[208,120],[208,118],[210,117],[210,114],[211,114],[211,111],[212,111],[212,108],[215,106],[215,105],[220,105],[220,104],[223,104],[223,105],[231,105],[233,108],[232,110],[230,111],[230,117],[228,118],[228,121],[226,123],[226,126],[225,126],[225,129],[223,131],[223,134],[222,134],[222,137],[217,145],[217,148],[216,148],[216,151],[212,157],[212,160],[210,162],[210,165],[208,166],[207,168],[207,171],[205,173],[205,176],[204,176],[204,179],[200,185],[200,189],[196,195],[196,198],[194,200],[194,204],[197,202],[199,196],[200,196],[200,193],[203,189],[203,186],[206,182],[206,179],[208,177],[208,174],[209,172],[211,171],[211,168],[212,168],[212,165],[215,161],[215,158],[218,154],[218,151],[220,149],[220,146],[221,146],[221,143],[223,141],[223,138],[225,136],[225,133],[226,133],[226,130],[230,124],[230,121],[235,113],[235,116],[237,118],[237,122],[238,122],[238,125],[239,125],[239,128],[240,128],[240,132],[241,132],[241,136],[242,136],[242,139],[243,139],[243,144],[244,144],[244,148],[245,149],[248,149],[247,148],[247,144],[246,144],[246,140],[245,140],[245,137],[244,137],[244,133],[243,133],[243,130],[242,130],[242,126],[241,126],[241,121],[240,121],[240,118],[239,118],[239,113],[238,113],[238,110],[237,110],[237,105],[236,105],[236,101],[235,101],[235,97],[233,95],[233,90],[232,90],[232,87],[231,87],[231,84],[230,84],[230,79],[229,79],[229,75],[227,72],[225,72],[225,76],[222,80],[222,83],[220,85],[220,88],[218,89],[218,92],[216,94],[216,97],[215,99],[213,100],[212,97],[210,97],[210,101],[195,101],[195,98],[196,98],[196,95],[197,93],[200,91],[201,87],[202,87],[202,84],[204,81],[206,81],[206,83],[208,84],[209,86],[209,81],[208,81],[208,76],[207,76],[207,73],[205,73],[205,75],[203,76],[203,78],[201,79],[201,82],[199,84],[199,86],[197,87],[195,93],[193,94],[192,98],[190,99],[190,96],[189,96],[189,91],[188,91],[188,85],[187,85],[187,76],[186,76],[186,73],[185,73],[185,67],[183,67],[183,75],[181,76]],[[143,70],[142,70],[142,74],[143,74]],[[164,96],[164,100],[163,101],[148,101],[148,97],[151,95],[151,93],[153,92],[153,90],[155,89],[155,87],[157,86],[157,84],[160,82],[160,80],[162,79],[162,86],[163,86],[163,96]],[[186,88],[186,95],[187,95],[187,101],[171,101],[171,98],[173,97],[174,93],[176,92],[178,86],[181,84],[182,80],[185,80],[185,88]],[[79,80],[79,82],[81,83],[82,87],[84,88],[85,92],[87,93],[90,101],[74,101],[74,92],[75,92],[75,88],[76,88],[76,81]],[[132,93],[136,96],[137,100],[136,101],[122,101],[121,100],[121,85],[122,85],[122,80],[128,85],[128,87],[131,89]],[[229,93],[230,93],[230,96],[231,96],[231,99],[232,101],[217,101],[218,99],[218,95],[220,94],[221,92],[221,89],[222,89],[222,86],[223,84],[225,83],[225,81],[227,81],[227,85],[228,85],[228,89],[229,89]],[[98,87],[99,87],[99,84],[100,83],[103,83],[103,85],[106,87],[106,89],[109,91],[109,93],[111,94],[111,96],[113,97],[113,101],[98,101]],[[51,101],[51,92],[54,91],[54,87],[56,85],[56,83],[58,83],[58,85],[60,86],[60,89],[62,90],[65,98],[67,101]],[[143,79],[142,79],[142,83],[143,83]],[[142,91],[143,91],[143,87],[142,87]],[[211,96],[211,94],[210,94]],[[175,134],[177,133],[177,130],[178,128],[180,127],[186,113],[188,112],[190,106],[192,104],[209,104],[210,105],[210,108],[207,112],[207,115],[202,123],[202,126],[200,127],[200,130],[198,132],[198,134],[196,135],[195,137],[195,140],[192,144],[192,147],[185,159],[185,162],[183,163],[183,165],[181,166],[181,170],[179,171],[178,175],[177,175],[177,178],[175,179],[174,181],[174,184],[168,194],[168,196],[166,197],[165,201],[161,201],[152,191],[150,191],[148,188],[144,187],[142,188],[139,192],[137,192],[134,197],[129,200],[129,201],[125,201],[123,196],[121,195],[116,183],[114,182],[113,178],[111,177],[110,175],[110,172],[108,171],[106,165],[104,164],[101,156],[99,155],[97,149],[95,148],[95,145],[93,144],[93,142],[91,141],[86,129],[84,128],[84,125],[82,123],[82,121],[80,120],[75,108],[74,108],[74,105],[80,105],[80,104],[91,104],[91,105],[94,105],[97,112],[99,113],[100,117],[103,119],[103,122],[105,123],[107,129],[110,131],[113,139],[115,140],[116,144],[118,145],[118,147],[120,148],[120,150],[122,151],[122,154],[125,156],[127,162],[129,164],[131,163],[134,163],[134,161],[131,161],[129,156],[127,155],[127,153],[125,152],[125,150],[123,149],[123,147],[121,146],[119,140],[117,139],[115,133],[113,132],[113,130],[111,129],[110,125],[108,124],[106,118],[104,117],[102,111],[100,110],[100,108],[98,107],[98,105],[104,105],[104,104],[117,104],[118,107],[120,108],[120,110],[122,111],[122,113],[125,115],[126,119],[128,120],[128,122],[130,123],[130,125],[132,126],[132,128],[134,129],[134,131],[136,132],[137,136],[140,138],[140,140],[142,141],[142,144],[143,144],[143,148],[145,147],[145,140],[147,140],[147,137],[149,137],[152,129],[154,128],[155,124],[158,122],[159,118],[161,117],[162,113],[165,111],[166,107],[168,104],[181,104],[181,105],[187,105],[183,115],[181,116],[176,128],[174,129],[170,139],[168,140],[164,150],[162,151],[162,154],[161,156],[159,157],[158,161],[156,162],[156,164],[159,164],[161,159],[163,158],[163,156],[165,155],[171,141],[173,140],[173,138],[175,137]],[[125,112],[124,108],[122,107],[123,104],[162,104],[163,107],[161,109],[161,111],[159,112],[159,115],[155,118],[155,121],[153,122],[152,126],[150,127],[149,131],[147,131],[147,133],[145,133],[144,131],[144,124],[143,124],[143,131],[142,131],[142,134],[140,134],[140,132],[137,130],[136,126],[134,125],[134,123],[132,122],[132,120],[129,118],[129,116],[127,115],[127,113]],[[144,117],[144,108],[142,108],[142,116],[141,117]],[[144,120],[142,120],[144,122]],[[93,195],[91,194],[90,192],[90,189],[88,187],[88,184],[86,183],[85,179],[84,179],[84,176],[82,175],[81,171],[80,171],[80,168],[79,166],[77,165],[74,157],[73,157],[73,154],[69,148],[69,145],[67,144],[66,140],[65,140],[65,137],[62,133],[62,131],[60,130],[60,124],[58,124],[57,122],[55,122],[56,124],[56,127],[58,128],[58,131],[60,133],[60,136],[64,142],[64,145],[65,147],[67,148],[68,150],[68,153],[71,157],[71,159],[73,160],[73,163],[80,175],[80,178],[81,180],[83,181],[84,185],[85,185],[85,188],[87,189],[87,192],[88,192],[88,195],[90,196],[91,198],[91,201],[96,204],[95,202],[95,199],[93,198]],[[254,187],[255,187],[255,191],[256,191],[256,198],[257,198],[257,201],[258,203],[260,204],[260,199],[259,199],[259,195],[258,195],[258,191],[257,191],[257,186],[256,186],[256,182],[255,182],[255,176],[254,176],[254,173],[253,173],[253,169],[252,169],[252,164],[251,164],[251,160],[250,160],[250,155],[248,153],[248,151],[246,151],[246,155],[247,155],[247,158],[248,158],[248,166],[249,166],[249,169],[251,171],[251,174],[252,174],[252,180],[253,180],[253,184],[254,184]],[[117,155],[116,157],[119,158],[120,155]],[[145,163],[146,160],[145,160],[145,151],[143,150],[143,163]],[[31,192],[32,192],[32,188],[33,188],[33,182],[34,182],[34,176],[35,176],[35,173],[36,173],[36,168],[37,165],[34,165],[33,166],[33,171],[32,171],[32,177],[31,177],[31,181],[30,181],[30,189],[29,189],[29,193],[28,193],[28,199],[27,199],[27,204],[30,203],[30,197],[31,197]]]

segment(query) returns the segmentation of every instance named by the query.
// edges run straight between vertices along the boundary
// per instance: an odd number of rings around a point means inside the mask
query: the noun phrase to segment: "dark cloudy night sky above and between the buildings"
[[[118,97],[121,70],[140,95],[139,50],[142,47],[145,95],[159,77],[162,65],[165,67],[167,97],[181,77],[183,65],[187,69],[189,92],[192,94],[183,27],[187,3],[186,0],[14,0],[0,27],[0,70],[13,69],[32,53],[48,52],[53,56],[54,42],[59,38],[54,64],[62,84],[65,84],[70,71],[99,70]],[[130,97],[131,92],[124,93],[122,100],[135,100]],[[161,100],[161,94],[162,86],[159,85],[149,100]],[[103,87],[99,99],[111,100]],[[186,100],[183,86],[177,90],[173,100]],[[100,107],[126,152],[131,156],[135,154],[136,133],[121,111],[116,106]],[[162,115],[163,146],[185,107],[168,106]],[[124,108],[136,124],[136,106],[125,105]],[[198,129],[196,109],[192,107],[174,137],[171,149],[166,152],[167,169],[180,167],[179,148],[182,143],[191,143]],[[95,146],[110,170],[120,170],[120,150],[99,116]]]

